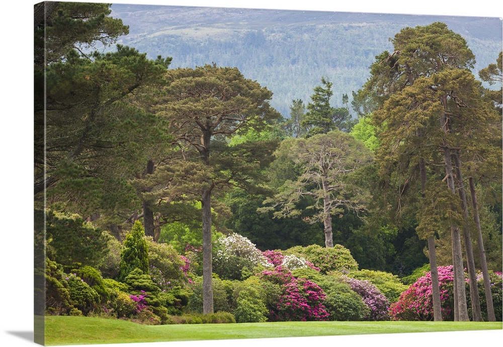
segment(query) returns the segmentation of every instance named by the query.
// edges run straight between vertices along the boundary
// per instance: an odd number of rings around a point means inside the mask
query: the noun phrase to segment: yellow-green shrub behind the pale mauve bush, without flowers
[[[383,271],[352,271],[348,274],[348,277],[372,282],[389,302],[397,301],[400,294],[408,288],[400,281],[398,276]]]

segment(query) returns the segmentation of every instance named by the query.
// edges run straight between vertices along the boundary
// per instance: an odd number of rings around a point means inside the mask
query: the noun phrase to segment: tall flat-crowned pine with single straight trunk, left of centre
[[[205,65],[179,68],[165,75],[167,85],[158,98],[157,114],[171,126],[176,141],[198,153],[196,165],[206,177],[192,192],[202,204],[203,312],[213,312],[212,195],[229,186],[260,191],[262,171],[277,142],[241,143],[230,146],[227,138],[264,129],[280,114],[270,107],[272,93],[236,68]]]

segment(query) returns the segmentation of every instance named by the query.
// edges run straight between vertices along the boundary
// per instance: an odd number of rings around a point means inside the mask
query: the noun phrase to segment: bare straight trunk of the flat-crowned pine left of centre
[[[201,203],[203,214],[203,313],[213,313],[210,189],[203,190]]]

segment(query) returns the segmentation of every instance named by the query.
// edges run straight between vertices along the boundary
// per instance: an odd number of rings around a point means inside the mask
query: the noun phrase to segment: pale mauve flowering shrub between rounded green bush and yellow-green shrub
[[[363,302],[370,309],[369,313],[364,317],[365,320],[389,319],[389,301],[375,285],[366,280],[357,280],[347,276],[341,276],[341,279],[362,297]]]

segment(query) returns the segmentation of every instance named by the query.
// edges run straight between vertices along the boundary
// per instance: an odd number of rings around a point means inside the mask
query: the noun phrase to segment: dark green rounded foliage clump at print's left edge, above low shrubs
[[[66,269],[78,266],[98,266],[107,254],[107,239],[79,215],[46,213],[48,256]]]

